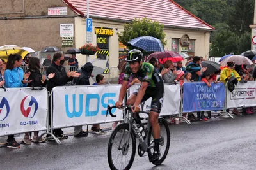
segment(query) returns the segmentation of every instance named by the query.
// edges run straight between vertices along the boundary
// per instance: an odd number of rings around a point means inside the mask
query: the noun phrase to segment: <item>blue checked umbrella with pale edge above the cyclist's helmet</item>
[[[152,36],[141,36],[134,38],[128,42],[132,46],[136,46],[146,52],[164,52],[162,42]]]

